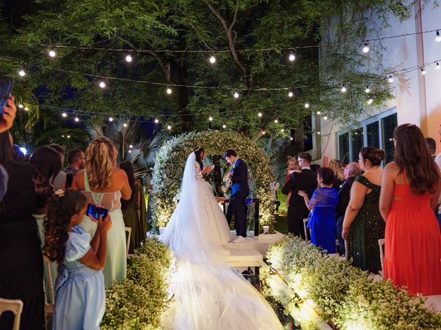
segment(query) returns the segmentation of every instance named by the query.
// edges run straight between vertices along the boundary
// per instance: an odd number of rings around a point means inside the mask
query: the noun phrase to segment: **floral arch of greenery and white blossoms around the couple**
[[[269,158],[262,148],[243,134],[231,131],[190,132],[172,137],[165,142],[156,155],[152,184],[154,185],[155,227],[165,226],[176,208],[183,168],[189,153],[196,146],[203,146],[207,155],[223,155],[225,150],[234,149],[247,165],[252,178],[250,194],[260,201],[260,227],[274,224],[271,205],[272,170]]]

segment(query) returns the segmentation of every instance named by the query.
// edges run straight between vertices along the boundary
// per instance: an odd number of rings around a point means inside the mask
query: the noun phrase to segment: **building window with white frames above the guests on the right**
[[[337,133],[337,154],[341,162],[343,164],[357,162],[358,153],[363,146],[384,149],[386,153],[384,164],[391,162],[395,151],[392,134],[397,126],[396,108],[363,120],[360,124],[358,129],[352,127]]]

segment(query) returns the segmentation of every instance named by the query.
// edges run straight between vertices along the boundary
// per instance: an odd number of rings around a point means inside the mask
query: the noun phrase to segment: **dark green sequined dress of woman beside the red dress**
[[[354,181],[372,191],[365,196],[363,206],[349,229],[349,258],[353,259],[354,266],[377,274],[381,270],[378,239],[384,239],[386,226],[379,208],[381,186],[362,175],[358,175]]]

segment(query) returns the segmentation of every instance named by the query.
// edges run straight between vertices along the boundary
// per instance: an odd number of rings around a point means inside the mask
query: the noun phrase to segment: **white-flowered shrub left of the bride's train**
[[[157,239],[147,239],[127,261],[127,278],[105,292],[102,329],[161,329],[168,307],[172,252]]]

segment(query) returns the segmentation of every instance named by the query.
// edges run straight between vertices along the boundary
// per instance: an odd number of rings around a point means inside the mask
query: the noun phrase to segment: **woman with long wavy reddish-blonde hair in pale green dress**
[[[109,210],[112,228],[107,234],[107,257],[103,270],[105,287],[111,287],[112,281],[123,280],[126,275],[126,245],[121,197],[130,199],[127,174],[116,168],[118,151],[107,137],[97,137],[90,142],[85,151],[85,169],[79,171],[72,182],[72,189],[80,190],[88,203],[102,206]],[[96,231],[96,223],[89,217],[81,222],[90,236]]]

